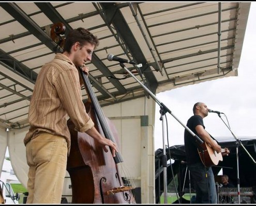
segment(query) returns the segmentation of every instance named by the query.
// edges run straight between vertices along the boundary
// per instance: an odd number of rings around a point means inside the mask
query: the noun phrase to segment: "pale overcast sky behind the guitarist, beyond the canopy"
[[[209,109],[223,112],[232,132],[240,136],[256,136],[256,3],[250,6],[242,55],[237,77],[225,77],[174,90],[162,92],[156,97],[172,111],[184,125],[193,115],[193,105],[204,102]],[[217,65],[217,63],[216,63]],[[163,148],[162,121],[156,106],[155,150]],[[221,118],[228,124],[226,117]],[[204,118],[205,129],[218,140],[218,136],[233,136],[216,113]],[[169,146],[184,144],[184,127],[167,113]],[[166,126],[164,126],[166,130]],[[164,143],[168,145],[167,134]],[[234,139],[235,141],[235,139]]]

